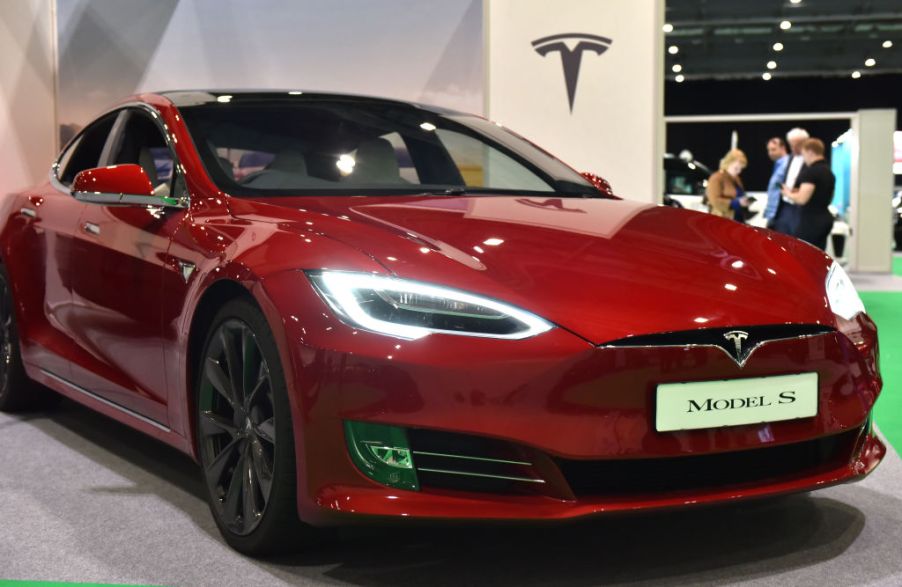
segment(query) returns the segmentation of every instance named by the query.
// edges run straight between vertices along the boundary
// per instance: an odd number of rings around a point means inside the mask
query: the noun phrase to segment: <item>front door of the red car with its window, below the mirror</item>
[[[105,163],[141,165],[157,195],[169,195],[175,157],[159,119],[123,110]],[[176,188],[180,189],[180,188]],[[81,352],[73,380],[154,422],[166,425],[162,285],[166,251],[185,212],[146,205],[86,204],[78,220],[72,302]]]

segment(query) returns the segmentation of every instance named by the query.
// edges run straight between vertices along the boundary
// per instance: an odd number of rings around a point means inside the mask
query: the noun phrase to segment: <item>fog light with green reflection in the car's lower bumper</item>
[[[389,487],[420,489],[403,428],[345,421],[345,440],[351,460],[370,479]]]

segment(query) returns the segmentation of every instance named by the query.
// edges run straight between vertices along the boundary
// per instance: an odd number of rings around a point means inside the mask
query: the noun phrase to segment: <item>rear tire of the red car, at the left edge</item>
[[[59,396],[25,374],[16,327],[15,304],[6,268],[0,265],[0,411],[48,408]]]

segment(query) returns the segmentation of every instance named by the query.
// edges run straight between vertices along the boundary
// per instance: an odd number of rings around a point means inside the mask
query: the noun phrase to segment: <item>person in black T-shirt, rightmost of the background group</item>
[[[836,177],[824,159],[824,143],[820,139],[806,140],[802,144],[802,157],[805,167],[799,172],[798,188],[793,190],[784,185],[783,195],[800,206],[795,236],[826,250],[827,237],[833,229],[833,214],[829,207]]]

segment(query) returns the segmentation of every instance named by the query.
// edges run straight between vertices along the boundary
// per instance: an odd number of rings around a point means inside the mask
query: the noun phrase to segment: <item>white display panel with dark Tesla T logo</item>
[[[487,116],[657,202],[662,0],[486,0],[485,12]]]

